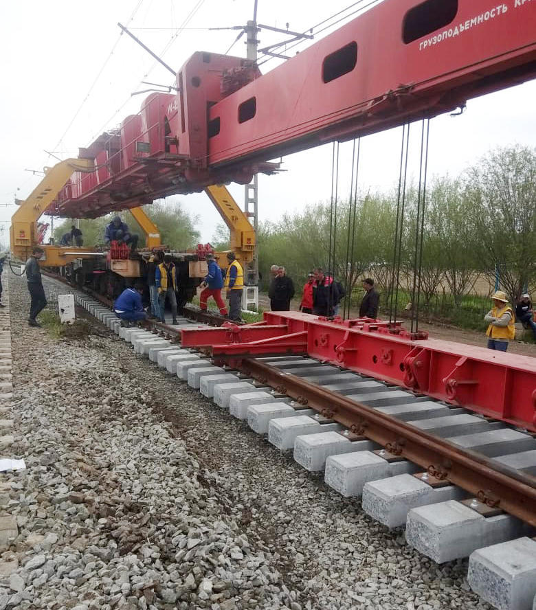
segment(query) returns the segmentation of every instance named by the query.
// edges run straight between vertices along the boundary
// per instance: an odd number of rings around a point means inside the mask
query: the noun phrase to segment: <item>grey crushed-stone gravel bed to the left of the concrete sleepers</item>
[[[489,609],[177,378],[96,335],[25,322],[10,278],[15,457],[0,610]],[[46,282],[50,302],[65,292]]]

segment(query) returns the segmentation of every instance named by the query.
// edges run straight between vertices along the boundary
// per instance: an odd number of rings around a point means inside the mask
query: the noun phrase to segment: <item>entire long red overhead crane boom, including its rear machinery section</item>
[[[449,111],[534,78],[534,0],[384,0],[262,76],[195,53],[177,94],[155,93],[81,157],[49,208],[100,216],[214,183],[247,183],[278,155]]]

